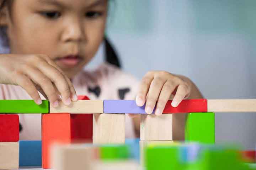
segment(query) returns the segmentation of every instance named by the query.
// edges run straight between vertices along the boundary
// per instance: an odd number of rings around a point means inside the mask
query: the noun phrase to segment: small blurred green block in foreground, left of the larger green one
[[[102,160],[128,159],[130,149],[127,145],[103,145],[100,147],[100,158]]]

